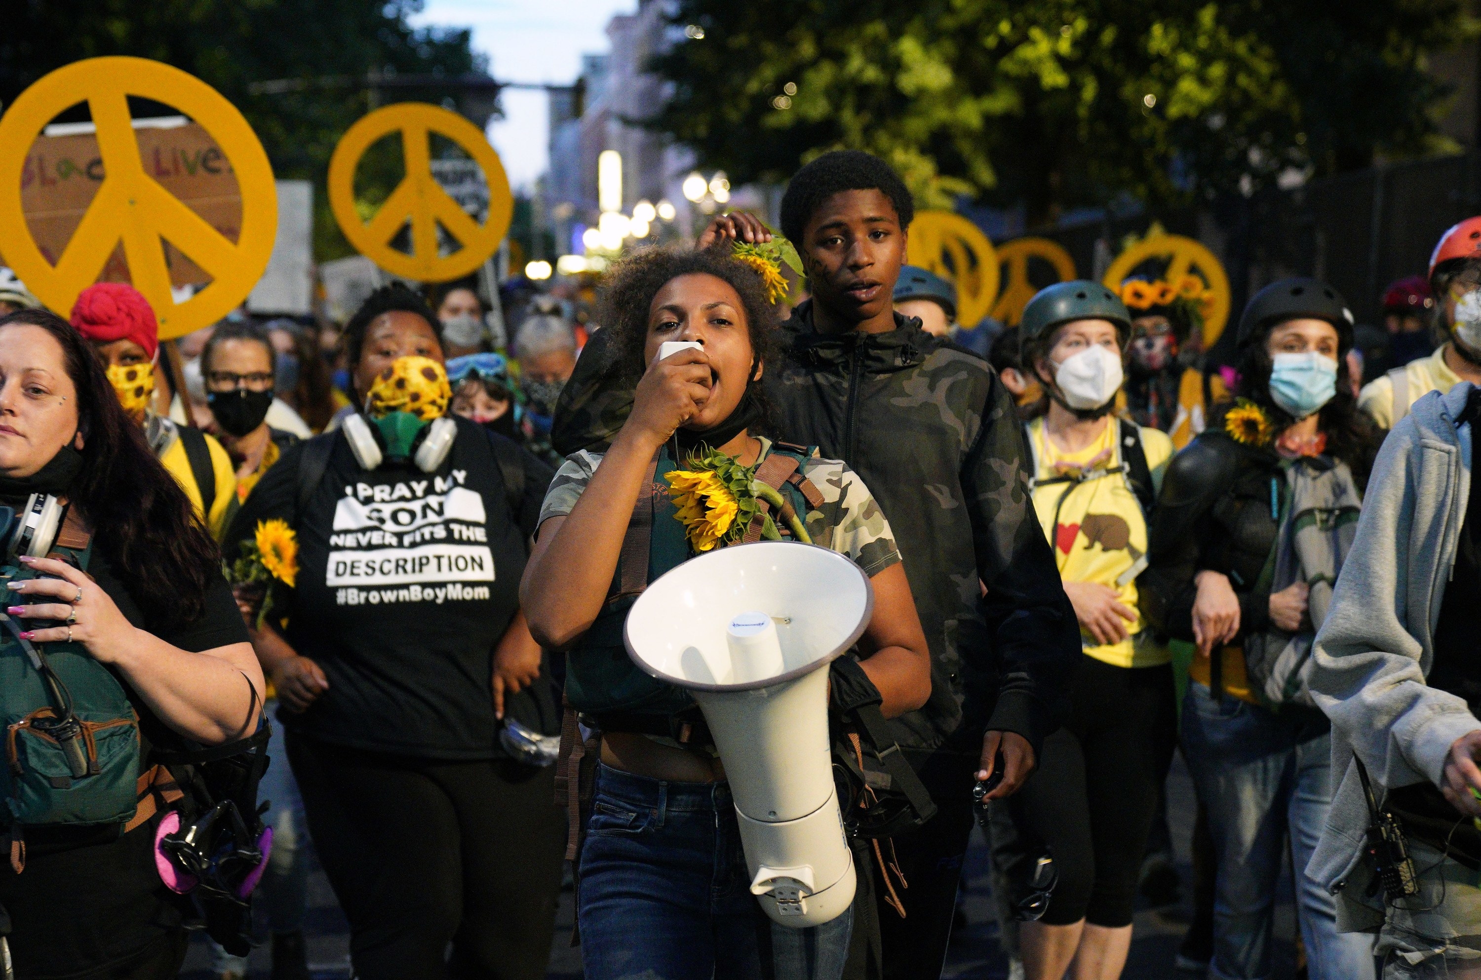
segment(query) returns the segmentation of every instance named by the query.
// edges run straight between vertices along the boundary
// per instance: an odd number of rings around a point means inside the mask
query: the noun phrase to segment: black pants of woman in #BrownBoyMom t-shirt
[[[544,980],[566,842],[552,767],[388,756],[295,731],[287,756],[360,980]]]

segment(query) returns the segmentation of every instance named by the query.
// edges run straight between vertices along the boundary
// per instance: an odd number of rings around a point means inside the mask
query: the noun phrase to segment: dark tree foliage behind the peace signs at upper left
[[[324,178],[344,132],[372,108],[364,89],[335,75],[459,75],[486,65],[467,30],[413,28],[422,0],[0,0],[0,101],[9,105],[46,73],[83,58],[153,58],[207,81],[243,111],[278,178],[314,181],[315,252],[352,255],[329,212]],[[258,81],[298,78],[301,92],[253,93]],[[392,98],[441,101],[435,86]],[[379,201],[400,176],[381,152],[357,191]],[[390,152],[387,152],[390,151]],[[384,157],[384,158],[382,158]]]

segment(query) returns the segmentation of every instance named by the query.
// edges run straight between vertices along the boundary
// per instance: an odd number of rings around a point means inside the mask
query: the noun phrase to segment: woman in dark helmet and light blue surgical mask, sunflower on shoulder
[[[1346,377],[1352,314],[1315,280],[1272,283],[1240,320],[1237,400],[1173,457],[1142,610],[1197,644],[1182,746],[1217,854],[1213,973],[1271,974],[1271,913],[1290,833],[1312,980],[1371,977],[1306,862],[1331,805],[1330,725],[1311,644],[1352,543],[1371,428]]]

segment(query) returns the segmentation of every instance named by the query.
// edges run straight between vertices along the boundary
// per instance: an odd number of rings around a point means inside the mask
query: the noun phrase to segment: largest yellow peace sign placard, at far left
[[[241,194],[241,229],[231,241],[173,197],[139,157],[129,98],[170,105],[204,129],[227,157]],[[21,203],[27,151],[62,110],[87,102],[98,127],[102,184],[56,265],[37,247]],[[277,187],[262,144],[241,113],[209,84],[144,58],[89,58],[58,68],[21,93],[0,118],[0,252],[36,296],[67,315],[123,243],[133,287],[160,321],[160,339],[221,320],[262,277],[277,234]],[[164,240],[210,275],[176,305]]]

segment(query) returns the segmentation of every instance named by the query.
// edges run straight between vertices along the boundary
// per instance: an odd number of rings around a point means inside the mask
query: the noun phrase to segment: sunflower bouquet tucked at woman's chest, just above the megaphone
[[[718,450],[690,456],[684,465],[687,469],[675,469],[665,478],[669,483],[668,494],[678,508],[674,517],[684,526],[684,534],[695,551],[706,552],[715,545],[740,540],[761,509],[760,500],[766,500],[786,521],[792,537],[812,543],[797,509],[779,491],[755,478],[755,466],[742,466],[738,459]],[[770,514],[761,518],[761,537],[782,539]]]

